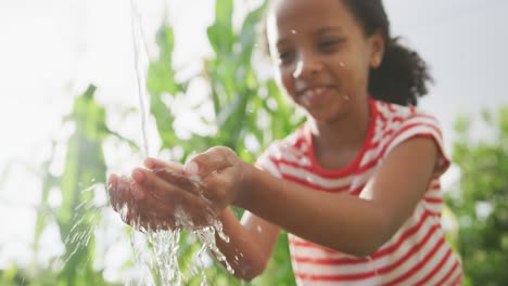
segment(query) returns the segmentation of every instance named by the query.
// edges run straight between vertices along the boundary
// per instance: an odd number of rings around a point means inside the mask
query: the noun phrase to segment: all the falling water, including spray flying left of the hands
[[[135,60],[135,69],[138,84],[138,95],[139,95],[139,114],[141,121],[141,131],[142,131],[142,155],[156,156],[152,154],[149,147],[149,135],[148,135],[148,118],[150,115],[150,102],[147,91],[147,72],[150,64],[149,53],[147,51],[145,40],[143,38],[142,30],[142,17],[138,10],[137,0],[130,1],[130,11],[131,11],[131,29],[132,29],[132,42],[134,42],[134,60]],[[153,170],[157,171],[170,171],[168,169],[164,170]],[[195,187],[202,185],[200,180],[196,178],[186,178],[190,180]],[[132,182],[130,177],[124,177],[124,180]],[[132,185],[131,185],[132,186]],[[84,193],[94,192],[105,193],[105,186],[103,184],[94,183],[91,186],[82,191]],[[89,196],[93,197],[93,196]],[[202,197],[203,199],[206,199]],[[101,220],[101,211],[103,205],[101,203],[94,202],[93,199],[88,199],[75,208],[75,213],[73,216],[73,221],[75,221],[74,226],[69,231],[68,236],[64,239],[64,244],[69,246],[69,253],[65,255],[65,260],[62,261],[63,265],[79,251],[81,248],[86,247],[92,236],[96,233],[96,229],[99,225]],[[91,210],[99,210],[98,212],[92,212]],[[91,217],[80,217],[81,213],[93,214]],[[127,207],[124,206],[119,211],[120,217],[126,216]],[[187,213],[182,209],[176,209],[175,222],[180,227],[179,230],[156,230],[156,231],[144,231],[139,232],[135,231],[137,227],[132,227],[129,232],[129,243],[132,250],[132,262],[134,265],[131,271],[129,271],[128,276],[125,281],[127,285],[162,285],[162,286],[179,286],[186,284],[192,276],[201,276],[201,285],[207,286],[208,281],[205,275],[205,270],[211,265],[212,253],[218,261],[223,262],[226,265],[226,270],[233,274],[233,269],[226,260],[226,257],[220,252],[216,245],[216,237],[223,239],[224,242],[229,242],[229,237],[223,231],[223,224],[215,217],[211,217],[211,225],[205,227],[195,227],[192,224],[192,221],[188,218]],[[124,217],[125,219],[125,217]],[[124,220],[125,221],[125,220]],[[135,225],[136,226],[136,225]],[[85,231],[84,231],[85,230]],[[192,261],[188,262],[191,265],[186,265],[186,275],[180,271],[179,261],[179,246],[180,246],[180,234],[186,231],[194,240],[201,242],[201,248],[193,253]],[[192,239],[190,239],[192,240]],[[187,242],[189,243],[189,242]],[[56,263],[60,261],[60,258],[54,260],[53,266],[59,266]],[[61,265],[60,265],[61,266]]]

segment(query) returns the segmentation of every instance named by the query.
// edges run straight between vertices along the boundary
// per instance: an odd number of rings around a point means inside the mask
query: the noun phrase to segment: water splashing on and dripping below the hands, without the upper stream
[[[191,183],[194,188],[189,190],[194,190],[195,195],[201,196],[202,199],[206,199],[200,192],[202,187],[201,181],[193,181],[169,168],[160,168],[153,171],[164,171],[170,173],[175,180]],[[132,179],[128,177],[124,177],[124,180],[127,182],[132,181]],[[129,187],[135,186],[131,183],[128,185]],[[131,190],[129,190],[129,192]],[[119,208],[118,213],[124,221],[129,220],[129,209],[126,205]],[[209,257],[207,257],[208,252],[213,253],[219,262],[224,263],[226,270],[233,274],[234,271],[232,266],[216,246],[217,236],[227,243],[229,242],[229,237],[224,233],[223,224],[217,220],[217,216],[212,209],[208,209],[205,216],[205,222],[211,225],[201,226],[201,224],[195,224],[189,214],[177,206],[174,210],[174,223],[179,227],[177,230],[165,230],[167,227],[166,225],[154,225],[156,230],[153,231],[147,230],[139,221],[137,223],[130,222],[134,230],[140,230],[141,232],[131,232],[130,245],[135,256],[135,269],[139,271],[135,280],[129,281],[128,284],[181,285],[187,282],[187,277],[183,277],[183,274],[180,272],[178,260],[181,230],[189,232],[189,235],[196,237],[202,244],[196,253],[196,259],[194,259],[192,265],[189,266],[191,273],[200,273],[202,286],[208,285],[205,270],[209,266],[209,263],[207,265],[204,262],[207,258],[209,260]],[[161,230],[158,230],[158,227]]]

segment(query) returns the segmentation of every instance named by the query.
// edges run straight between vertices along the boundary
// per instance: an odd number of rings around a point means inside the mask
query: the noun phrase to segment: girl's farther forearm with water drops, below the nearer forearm
[[[227,263],[234,271],[233,275],[244,281],[251,281],[265,269],[269,253],[261,249],[251,233],[239,222],[230,208],[221,217],[223,231],[229,237],[225,242],[216,234],[216,245],[225,256]],[[215,253],[213,253],[215,256]],[[226,263],[215,256],[225,268]]]

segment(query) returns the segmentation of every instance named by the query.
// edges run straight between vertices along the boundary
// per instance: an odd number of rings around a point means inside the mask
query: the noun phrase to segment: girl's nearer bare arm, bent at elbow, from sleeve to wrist
[[[431,139],[402,143],[388,155],[360,197],[312,192],[251,168],[245,179],[250,187],[238,194],[234,204],[314,243],[368,256],[410,216],[433,174],[436,156]]]

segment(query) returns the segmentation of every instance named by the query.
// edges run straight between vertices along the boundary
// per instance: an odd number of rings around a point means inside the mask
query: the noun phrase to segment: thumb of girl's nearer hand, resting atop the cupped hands
[[[232,166],[236,157],[234,152],[228,147],[212,147],[190,159],[183,169],[190,176],[205,178],[217,170]]]

